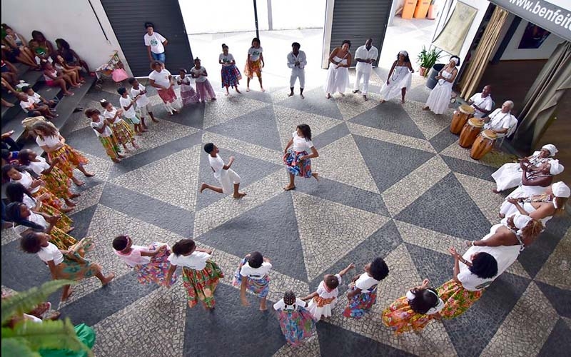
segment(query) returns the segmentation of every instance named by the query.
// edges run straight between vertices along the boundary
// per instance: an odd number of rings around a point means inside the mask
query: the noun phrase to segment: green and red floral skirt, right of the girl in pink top
[[[223,277],[221,268],[213,261],[206,261],[206,268],[201,271],[183,267],[183,286],[188,306],[193,308],[201,301],[206,308],[213,308],[216,305],[214,291],[218,280]]]

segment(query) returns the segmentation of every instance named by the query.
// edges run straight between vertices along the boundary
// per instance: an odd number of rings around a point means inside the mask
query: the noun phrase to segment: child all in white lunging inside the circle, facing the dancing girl
[[[230,169],[230,166],[232,166],[234,162],[234,156],[230,156],[228,165],[224,165],[224,161],[218,155],[218,152],[220,152],[220,150],[218,150],[218,146],[208,143],[204,146],[204,151],[208,153],[208,161],[210,162],[212,171],[214,171],[214,177],[221,183],[222,187],[202,183],[201,193],[208,188],[212,191],[224,193],[226,195],[233,193],[234,198],[242,198],[243,196],[246,196],[246,193],[238,191],[240,188],[240,176]]]

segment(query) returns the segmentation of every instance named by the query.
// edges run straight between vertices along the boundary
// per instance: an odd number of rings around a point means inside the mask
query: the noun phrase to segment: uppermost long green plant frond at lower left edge
[[[39,287],[31,288],[14,296],[2,300],[2,325],[7,323],[10,318],[21,315],[32,310],[39,303],[46,301],[51,293],[55,293],[62,286],[74,284],[75,281],[70,280],[53,280],[42,284]]]

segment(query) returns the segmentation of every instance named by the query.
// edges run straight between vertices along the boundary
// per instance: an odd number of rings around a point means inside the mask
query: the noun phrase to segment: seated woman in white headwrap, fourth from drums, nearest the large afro
[[[502,222],[503,223],[503,222]],[[515,213],[506,218],[505,223],[495,228],[493,235],[486,240],[468,241],[468,246],[529,246],[543,231],[543,224],[530,216]]]

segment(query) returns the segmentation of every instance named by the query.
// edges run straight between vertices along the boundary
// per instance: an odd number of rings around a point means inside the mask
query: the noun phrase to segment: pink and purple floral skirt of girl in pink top
[[[141,284],[157,283],[161,285],[168,274],[168,269],[171,268],[171,263],[168,261],[168,256],[171,255],[171,249],[166,244],[154,242],[148,246],[150,251],[158,251],[155,256],[151,256],[151,262],[133,267],[133,271],[137,273],[137,281]],[[176,273],[173,273],[169,285],[176,281]]]

